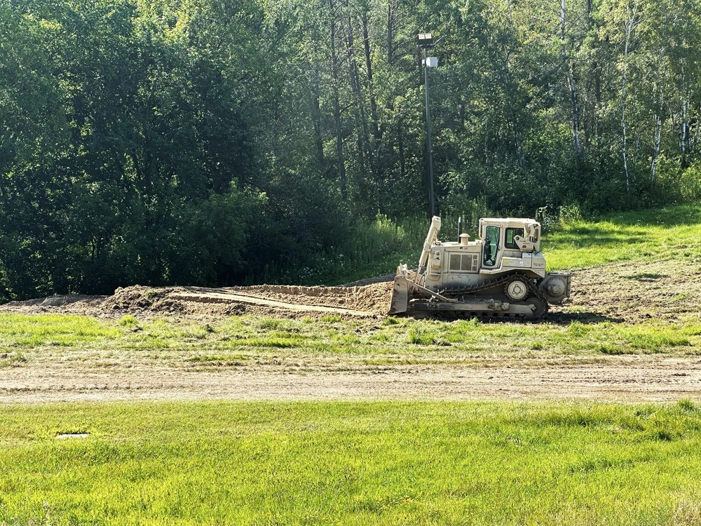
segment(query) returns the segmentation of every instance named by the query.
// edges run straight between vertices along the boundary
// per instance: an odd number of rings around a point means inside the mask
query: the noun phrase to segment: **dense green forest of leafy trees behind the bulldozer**
[[[699,0],[0,0],[0,300],[390,250],[429,31],[444,217],[701,197]]]

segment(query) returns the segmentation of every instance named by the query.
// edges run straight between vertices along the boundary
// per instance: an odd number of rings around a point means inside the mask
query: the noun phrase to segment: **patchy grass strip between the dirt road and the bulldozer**
[[[343,322],[322,318],[308,323],[260,316],[203,323],[133,316],[97,321],[81,316],[2,313],[0,332],[6,335],[0,347],[0,367],[57,358],[79,361],[86,367],[100,357],[202,369],[304,357],[351,360],[348,366],[352,367],[358,360],[365,364],[473,363],[484,357],[701,353],[701,323],[693,317],[675,323],[653,318],[636,325],[411,318]]]

